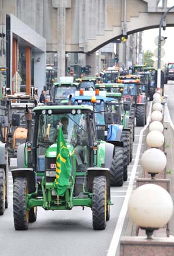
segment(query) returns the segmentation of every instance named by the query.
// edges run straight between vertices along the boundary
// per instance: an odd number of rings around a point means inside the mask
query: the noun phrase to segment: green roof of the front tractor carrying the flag
[[[42,110],[61,110],[62,112],[63,111],[66,111],[68,112],[67,110],[72,110],[72,109],[81,109],[81,110],[88,110],[88,111],[93,111],[93,107],[92,106],[74,106],[74,105],[63,105],[63,106],[55,106],[55,105],[50,105],[50,106],[47,106],[47,105],[43,105],[43,106],[38,106],[38,107],[34,107],[34,109],[32,111],[34,112],[37,112],[37,111],[42,111]]]

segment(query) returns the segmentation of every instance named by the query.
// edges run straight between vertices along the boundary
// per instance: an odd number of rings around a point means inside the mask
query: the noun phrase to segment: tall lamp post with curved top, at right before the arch
[[[165,16],[168,14],[168,12],[174,8],[174,5],[167,9],[165,13],[162,15],[161,20],[160,20],[160,27],[159,27],[159,37],[158,37],[158,73],[157,73],[157,91],[160,90],[161,88],[161,27],[162,27],[162,22],[165,18]]]

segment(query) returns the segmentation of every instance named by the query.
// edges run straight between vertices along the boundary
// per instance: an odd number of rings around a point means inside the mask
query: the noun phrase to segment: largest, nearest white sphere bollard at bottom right
[[[146,184],[139,186],[131,195],[128,211],[133,222],[140,228],[164,227],[172,217],[173,201],[161,186]]]

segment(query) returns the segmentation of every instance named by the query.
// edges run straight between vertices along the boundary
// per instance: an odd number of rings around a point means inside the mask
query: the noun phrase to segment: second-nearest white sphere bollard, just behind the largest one
[[[166,167],[166,156],[160,149],[147,149],[143,153],[141,165],[144,171],[158,174]]]

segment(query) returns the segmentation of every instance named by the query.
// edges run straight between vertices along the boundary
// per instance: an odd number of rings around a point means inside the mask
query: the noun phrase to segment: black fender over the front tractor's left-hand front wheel
[[[26,178],[28,183],[28,193],[34,193],[36,189],[35,172],[32,168],[17,168],[12,170],[13,182],[16,178]]]

